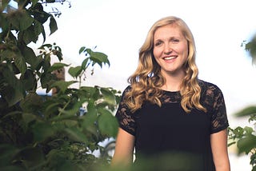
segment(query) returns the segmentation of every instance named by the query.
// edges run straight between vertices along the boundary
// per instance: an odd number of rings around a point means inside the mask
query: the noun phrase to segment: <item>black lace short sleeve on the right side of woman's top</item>
[[[226,116],[226,105],[221,89],[210,85],[206,89],[206,104],[211,106],[211,133],[218,133],[229,126]]]

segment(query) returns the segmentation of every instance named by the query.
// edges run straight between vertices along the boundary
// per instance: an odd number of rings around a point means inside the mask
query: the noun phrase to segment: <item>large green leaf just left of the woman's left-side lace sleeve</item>
[[[107,109],[99,109],[98,128],[103,135],[116,137],[118,133],[118,121]]]

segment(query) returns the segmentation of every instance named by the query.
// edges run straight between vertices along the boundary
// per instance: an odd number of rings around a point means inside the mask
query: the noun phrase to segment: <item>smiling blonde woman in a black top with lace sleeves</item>
[[[193,34],[181,18],[155,22],[116,117],[112,165],[138,170],[230,170],[221,89],[198,79]]]

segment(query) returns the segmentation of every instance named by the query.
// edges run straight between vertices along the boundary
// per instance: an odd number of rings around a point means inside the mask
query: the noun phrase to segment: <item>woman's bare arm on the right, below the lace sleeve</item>
[[[230,160],[227,151],[227,130],[210,135],[210,145],[216,171],[230,171]]]

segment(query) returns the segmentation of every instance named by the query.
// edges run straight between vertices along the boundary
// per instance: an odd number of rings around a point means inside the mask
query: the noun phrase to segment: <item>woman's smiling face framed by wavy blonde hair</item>
[[[185,75],[188,42],[178,26],[169,24],[154,32],[153,54],[163,75]]]

